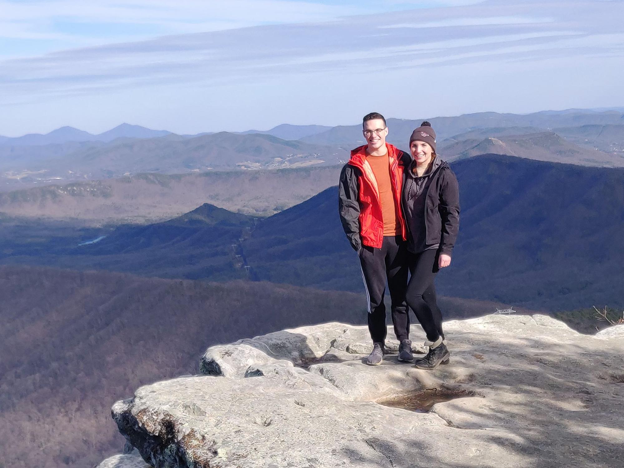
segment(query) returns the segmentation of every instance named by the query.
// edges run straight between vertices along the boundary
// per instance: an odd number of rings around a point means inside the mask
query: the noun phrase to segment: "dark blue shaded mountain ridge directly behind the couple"
[[[444,295],[545,310],[624,305],[624,170],[484,155],[452,163],[461,192]],[[268,218],[245,242],[258,278],[359,288],[336,188]]]

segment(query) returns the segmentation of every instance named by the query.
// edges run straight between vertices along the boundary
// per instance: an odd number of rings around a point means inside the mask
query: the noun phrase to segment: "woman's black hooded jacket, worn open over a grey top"
[[[425,199],[425,218],[407,220],[409,240],[412,245],[418,243],[418,236],[424,232],[427,245],[439,244],[439,252],[451,255],[457,232],[459,231],[459,184],[457,177],[446,161],[441,161],[428,176]],[[416,177],[411,170],[404,172],[404,186],[412,183]],[[403,212],[408,203],[414,203],[407,190],[403,190]]]

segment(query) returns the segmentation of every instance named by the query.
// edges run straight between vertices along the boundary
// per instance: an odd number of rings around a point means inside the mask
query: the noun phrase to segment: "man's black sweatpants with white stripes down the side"
[[[373,341],[386,339],[386,281],[391,299],[394,334],[401,341],[409,336],[409,315],[405,302],[407,248],[401,236],[384,236],[381,248],[364,245],[359,251],[362,278],[368,300],[368,330]]]

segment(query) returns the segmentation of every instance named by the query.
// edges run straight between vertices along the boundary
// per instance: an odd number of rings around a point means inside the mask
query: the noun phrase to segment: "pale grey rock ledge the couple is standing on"
[[[366,366],[368,330],[340,323],[213,346],[206,375],[115,403],[142,459],[100,468],[622,466],[624,326],[589,336],[492,315],[445,331],[451,363],[436,371],[396,354]]]

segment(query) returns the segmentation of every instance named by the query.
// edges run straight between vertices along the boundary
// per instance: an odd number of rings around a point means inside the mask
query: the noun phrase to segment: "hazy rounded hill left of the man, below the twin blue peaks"
[[[149,139],[117,138],[109,144],[94,142],[69,154],[44,159],[36,148],[17,147],[16,150],[13,147],[6,150],[5,147],[3,150],[0,147],[0,155],[2,152],[11,155],[11,158],[0,160],[0,171],[6,171],[4,175],[9,178],[92,180],[143,172],[172,174],[213,169],[258,170],[336,165],[348,158],[345,150],[327,145],[283,140],[268,134],[229,132],[193,138],[175,138],[173,135]],[[26,156],[31,153],[36,157],[16,157],[16,154]],[[31,173],[34,176],[29,176]]]

